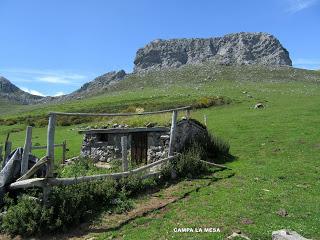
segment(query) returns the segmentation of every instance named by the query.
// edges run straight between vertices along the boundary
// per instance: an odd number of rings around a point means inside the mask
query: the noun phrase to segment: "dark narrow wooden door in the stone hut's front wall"
[[[131,140],[131,161],[134,164],[147,164],[148,136],[147,133],[133,133]]]

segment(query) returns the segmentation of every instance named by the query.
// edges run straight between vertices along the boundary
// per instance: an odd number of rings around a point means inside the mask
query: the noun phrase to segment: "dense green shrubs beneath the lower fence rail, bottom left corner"
[[[19,197],[16,204],[11,202],[1,229],[11,235],[23,236],[64,231],[102,209],[119,213],[131,207],[132,202],[111,179],[54,187],[46,205],[25,195]]]

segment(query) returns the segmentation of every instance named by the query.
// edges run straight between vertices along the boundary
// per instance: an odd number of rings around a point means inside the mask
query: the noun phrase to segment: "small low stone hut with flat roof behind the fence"
[[[148,164],[168,156],[170,128],[168,127],[116,127],[81,130],[84,134],[81,156],[94,161],[111,162],[121,159],[121,136],[127,136],[128,156],[136,164]],[[207,129],[193,119],[177,122],[174,151],[181,152],[197,136],[207,134]]]

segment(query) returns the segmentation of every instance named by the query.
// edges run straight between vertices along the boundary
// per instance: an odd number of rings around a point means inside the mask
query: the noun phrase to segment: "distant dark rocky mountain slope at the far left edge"
[[[44,97],[32,95],[12,84],[8,79],[0,76],[0,98],[11,103],[32,104],[42,101]]]

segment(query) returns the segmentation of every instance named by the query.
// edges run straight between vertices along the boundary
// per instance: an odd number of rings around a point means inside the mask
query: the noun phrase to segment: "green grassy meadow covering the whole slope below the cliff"
[[[127,82],[125,82],[127,81]],[[110,111],[141,107],[165,109],[221,96],[229,104],[192,111],[193,118],[228,141],[236,157],[220,171],[191,180],[205,181],[198,191],[161,210],[99,233],[97,239],[225,239],[241,230],[251,239],[270,239],[272,231],[292,229],[320,239],[320,73],[297,69],[213,68],[210,65],[130,76],[86,101],[5,109],[3,119],[45,116],[48,111]],[[132,83],[129,87],[128,81]],[[131,89],[130,89],[131,88]],[[132,90],[135,89],[135,90]],[[263,109],[253,109],[261,102]],[[179,116],[182,117],[182,114]],[[170,114],[151,117],[99,118],[56,128],[56,143],[67,141],[68,157],[79,154],[86,126],[147,122],[167,125]],[[0,145],[8,132],[14,147],[23,146],[26,125],[0,126]],[[45,145],[46,127],[35,127],[33,144]],[[45,152],[35,152],[39,157]],[[61,156],[56,150],[57,163]],[[184,180],[179,184],[188,183]],[[188,184],[186,187],[188,188]],[[184,189],[185,190],[185,189]],[[164,190],[161,190],[164,191]],[[161,195],[161,191],[159,195]],[[181,189],[182,191],[182,189]],[[286,216],[277,212],[283,209]],[[108,218],[108,215],[102,215]],[[99,223],[96,223],[99,224]],[[175,233],[174,228],[219,228],[221,233]]]

